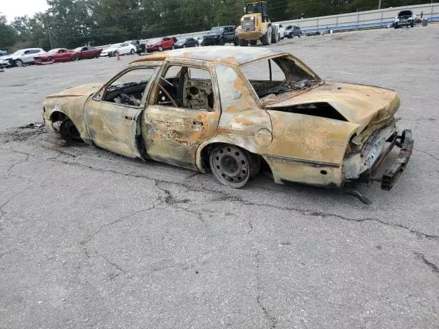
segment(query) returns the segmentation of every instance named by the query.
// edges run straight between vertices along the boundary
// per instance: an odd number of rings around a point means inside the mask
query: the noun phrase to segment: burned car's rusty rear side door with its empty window
[[[196,169],[197,148],[215,134],[221,114],[215,68],[193,63],[171,63],[156,79],[142,124],[150,158],[189,169]],[[180,77],[169,77],[172,69]]]

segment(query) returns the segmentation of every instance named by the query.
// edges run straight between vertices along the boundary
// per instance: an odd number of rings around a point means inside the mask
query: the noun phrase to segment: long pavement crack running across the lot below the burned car
[[[14,149],[8,149],[9,151],[12,152],[16,152],[16,153],[21,153],[21,154],[28,154],[26,152],[23,151],[16,151]],[[36,156],[34,154],[29,154],[31,156]],[[38,156],[36,156],[38,157]],[[41,158],[41,157],[38,157]],[[376,223],[381,223],[385,226],[391,226],[394,228],[401,228],[403,230],[407,230],[408,232],[411,232],[413,234],[416,234],[418,236],[423,236],[426,239],[439,239],[438,235],[434,235],[434,234],[427,234],[425,232],[421,232],[418,230],[414,230],[412,228],[409,228],[407,226],[403,226],[399,223],[391,223],[388,221],[383,221],[382,219],[378,219],[378,218],[359,218],[359,219],[355,219],[355,218],[348,218],[348,217],[344,217],[342,215],[338,215],[335,213],[331,213],[331,212],[317,212],[315,210],[309,210],[309,209],[301,209],[301,208],[294,208],[294,207],[284,207],[284,206],[276,206],[274,204],[263,204],[263,203],[258,203],[255,204],[253,202],[248,202],[244,199],[241,199],[241,197],[237,197],[235,195],[231,195],[230,193],[226,193],[225,191],[218,191],[215,190],[213,188],[207,188],[206,186],[203,187],[194,187],[191,186],[185,182],[172,182],[172,181],[167,181],[167,180],[159,180],[158,178],[151,178],[150,176],[147,175],[143,175],[143,174],[135,174],[135,173],[123,173],[121,171],[117,171],[115,169],[99,169],[99,168],[95,168],[91,165],[86,165],[86,164],[80,164],[78,162],[70,162],[70,161],[65,161],[65,160],[58,160],[58,159],[48,159],[48,158],[43,158],[44,160],[51,160],[54,162],[58,162],[58,163],[62,163],[62,164],[67,164],[69,166],[72,167],[79,167],[79,168],[83,168],[83,169],[90,169],[92,171],[97,171],[99,173],[112,173],[115,175],[122,175],[122,176],[126,176],[126,177],[134,177],[134,178],[142,178],[145,180],[150,180],[152,182],[154,182],[157,186],[158,183],[163,183],[163,184],[171,184],[171,185],[176,185],[176,186],[182,186],[184,188],[187,188],[189,191],[195,191],[195,192],[200,192],[200,191],[204,191],[204,192],[211,192],[211,193],[218,193],[219,194],[219,199],[217,200],[213,200],[212,202],[239,202],[240,204],[244,204],[245,206],[264,206],[264,207],[268,207],[268,208],[274,208],[277,210],[285,210],[285,211],[295,211],[298,212],[300,215],[304,215],[304,216],[311,216],[311,217],[322,217],[322,218],[328,218],[328,217],[335,217],[337,219],[342,219],[344,221],[351,221],[351,222],[357,222],[357,223],[363,223],[363,222],[367,222],[367,221],[375,221]],[[163,193],[165,193],[165,197],[164,197],[164,201],[166,204],[169,205],[175,205],[178,203],[189,203],[190,200],[187,201],[187,199],[181,200],[180,202],[176,202],[176,200],[174,199],[174,197],[169,193],[169,191],[167,191],[166,189],[163,190],[161,189],[159,186],[157,186],[159,190],[163,191]],[[180,207],[180,208],[184,208],[184,207]],[[185,210],[187,210],[187,208],[184,208]]]

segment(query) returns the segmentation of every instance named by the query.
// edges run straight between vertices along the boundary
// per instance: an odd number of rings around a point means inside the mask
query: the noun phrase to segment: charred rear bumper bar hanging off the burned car
[[[394,134],[394,136],[389,138],[388,142],[390,142],[390,145],[384,149],[379,158],[377,158],[377,161],[375,161],[375,164],[373,164],[372,168],[360,175],[360,178],[357,180],[358,182],[381,182],[382,190],[390,191],[392,189],[396,181],[399,179],[399,176],[401,176],[401,173],[403,173],[405,166],[407,166],[410,156],[412,156],[414,145],[412,131],[404,130],[400,136]],[[385,169],[381,177],[376,176],[381,164],[385,158],[388,157],[390,151],[392,151],[395,146],[401,149],[399,151],[399,155],[396,157],[390,167]]]

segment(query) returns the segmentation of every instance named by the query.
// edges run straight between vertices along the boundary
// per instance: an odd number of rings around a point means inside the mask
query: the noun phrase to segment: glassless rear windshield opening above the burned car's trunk
[[[263,103],[273,103],[287,98],[292,92],[306,90],[322,82],[292,56],[257,60],[241,66],[241,71]]]

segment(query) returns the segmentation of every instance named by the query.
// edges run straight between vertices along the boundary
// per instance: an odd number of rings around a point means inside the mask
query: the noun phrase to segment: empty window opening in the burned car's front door
[[[97,94],[95,99],[102,97],[103,101],[140,106],[143,93],[154,71],[156,67],[132,69],[111,82],[104,91],[104,97]]]

